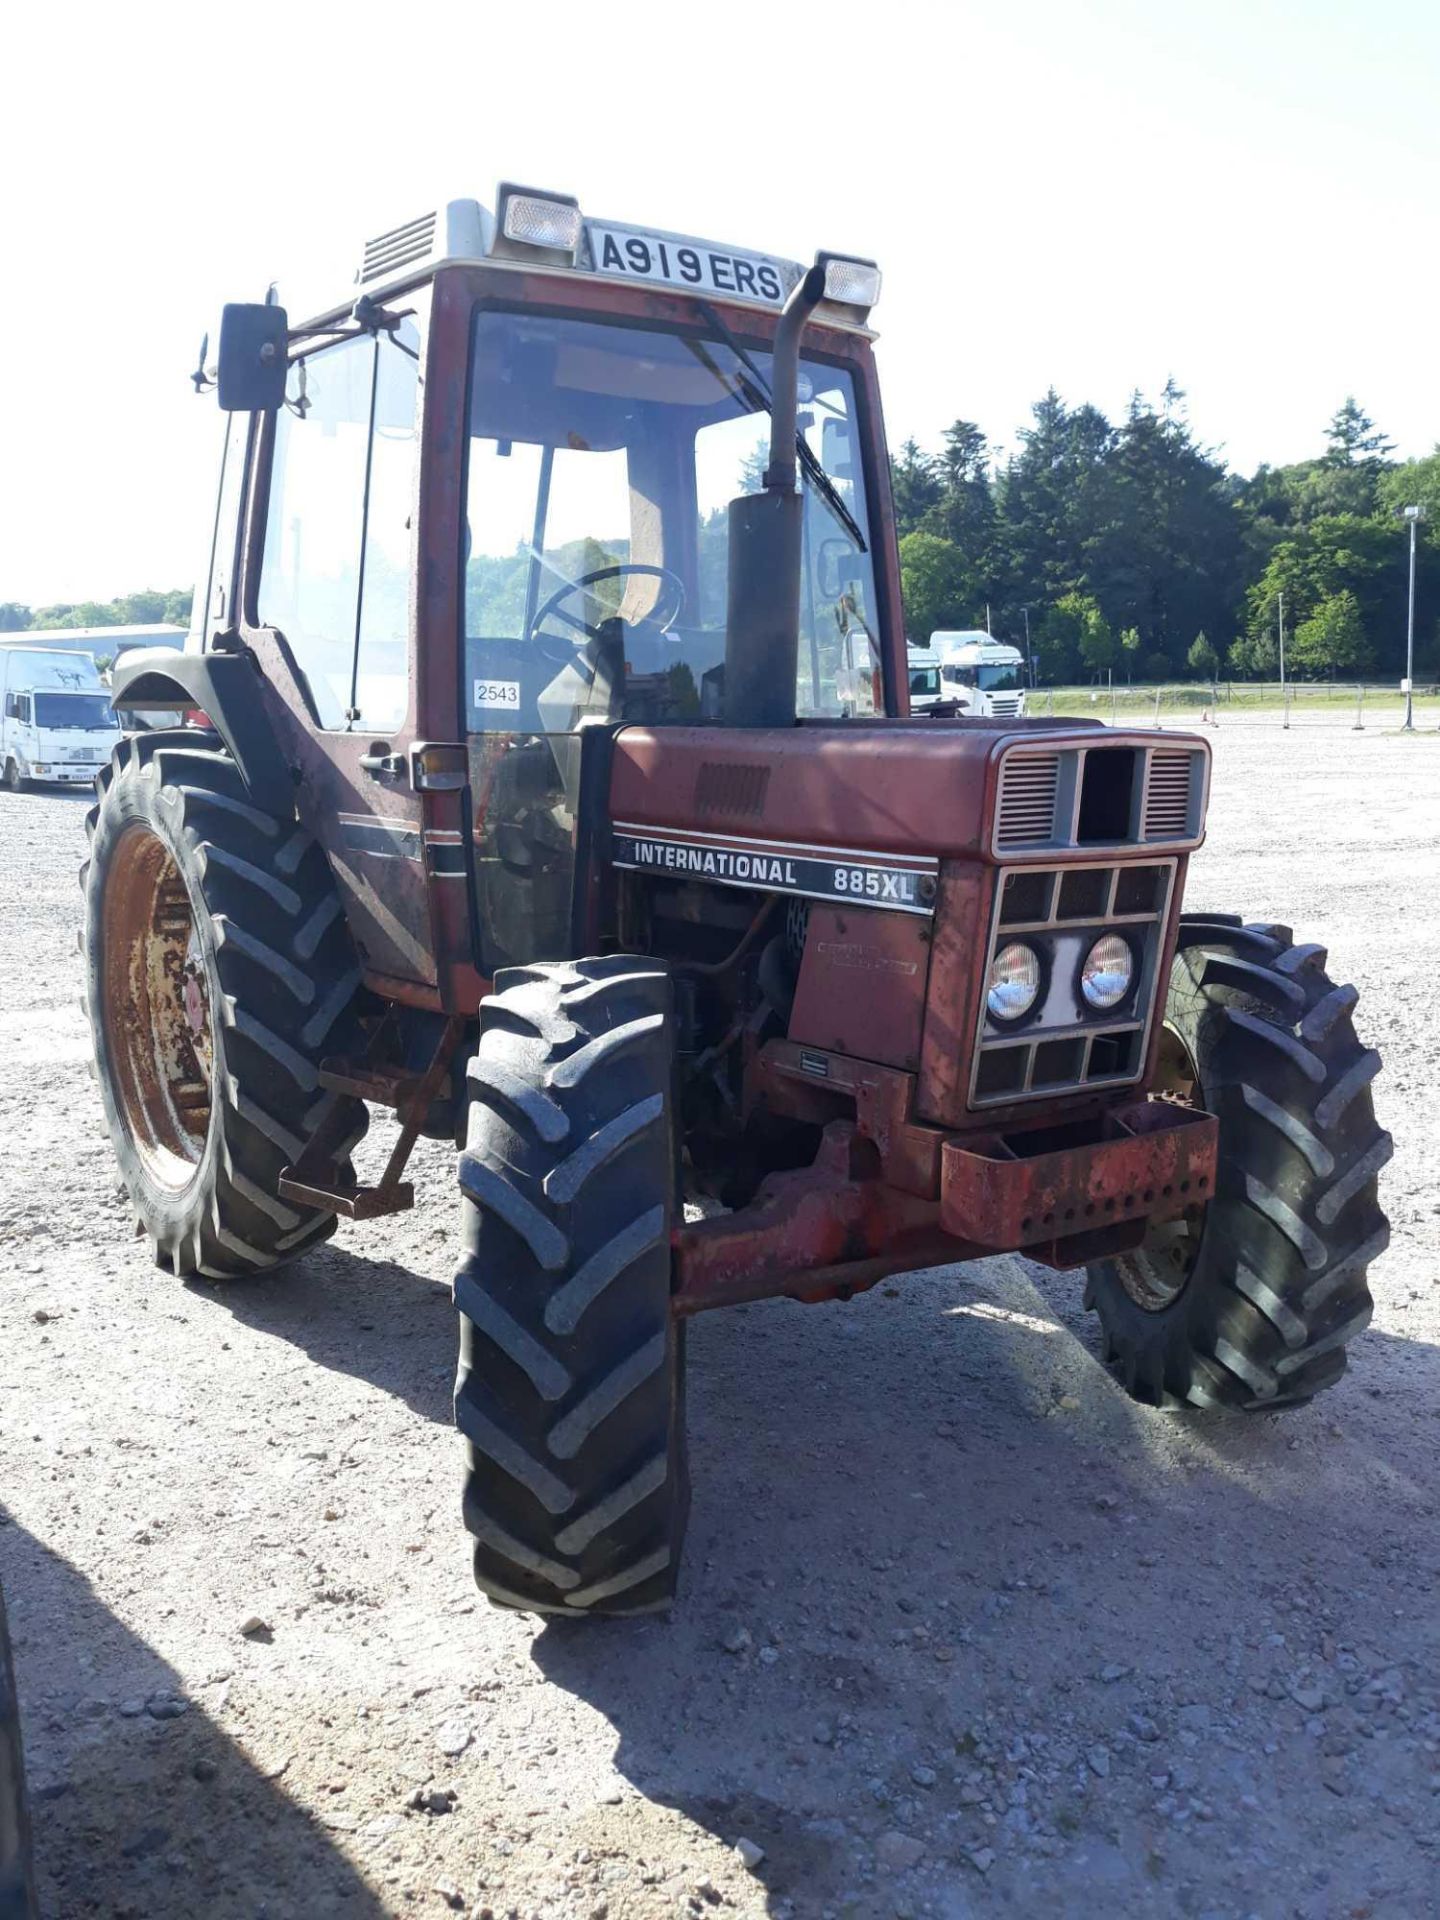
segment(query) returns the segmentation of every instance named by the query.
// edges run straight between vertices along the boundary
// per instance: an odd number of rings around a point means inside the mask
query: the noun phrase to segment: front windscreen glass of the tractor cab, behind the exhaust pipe
[[[472,340],[465,641],[470,732],[718,718],[728,503],[770,417],[720,338],[482,311]],[[808,478],[797,712],[874,714],[879,634],[851,374],[801,367]]]

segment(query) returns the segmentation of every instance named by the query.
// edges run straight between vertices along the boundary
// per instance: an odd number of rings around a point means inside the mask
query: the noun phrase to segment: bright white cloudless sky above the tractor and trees
[[[891,445],[1169,376],[1244,472],[1346,394],[1440,442],[1430,0],[157,0],[6,38],[0,601],[190,584],[221,303],[344,300],[365,236],[499,179],[876,257]]]

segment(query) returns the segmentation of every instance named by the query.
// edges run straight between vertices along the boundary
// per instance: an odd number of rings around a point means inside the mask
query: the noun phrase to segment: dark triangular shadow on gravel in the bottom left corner
[[[42,1920],[384,1920],[349,1860],[200,1703],[177,1711],[179,1676],[154,1647],[4,1509],[0,1523]],[[46,1642],[84,1653],[36,1697]]]

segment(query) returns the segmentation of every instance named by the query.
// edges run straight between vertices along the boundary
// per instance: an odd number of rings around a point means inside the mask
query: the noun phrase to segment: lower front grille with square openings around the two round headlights
[[[1173,885],[1175,860],[1000,872],[985,975],[1000,947],[1025,941],[1041,956],[1043,983],[1029,1021],[1018,1027],[993,1020],[981,1000],[972,1108],[1123,1087],[1140,1077]],[[1135,987],[1117,1008],[1096,1012],[1079,993],[1079,968],[1110,931],[1131,945]]]

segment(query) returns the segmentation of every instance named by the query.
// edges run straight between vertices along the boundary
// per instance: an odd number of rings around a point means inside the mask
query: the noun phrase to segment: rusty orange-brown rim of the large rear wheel
[[[115,1100],[150,1179],[179,1192],[209,1135],[209,983],[184,879],[148,828],[127,828],[115,843],[102,924]]]

